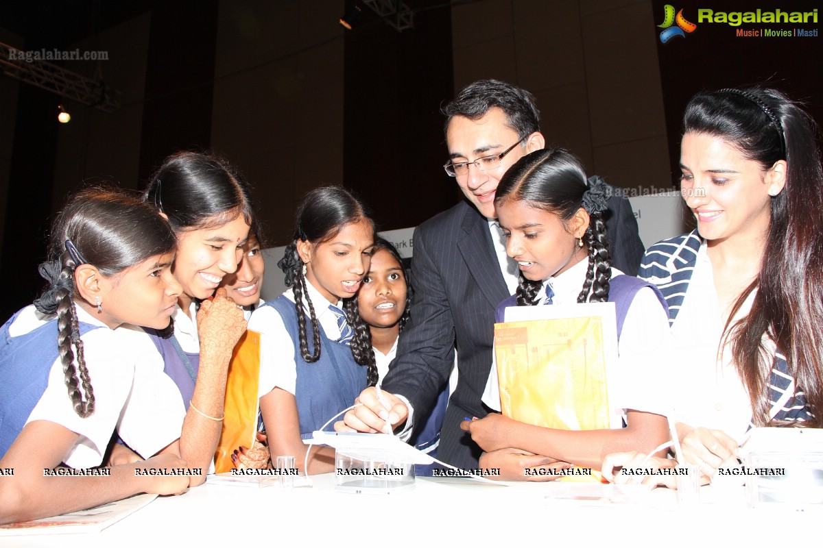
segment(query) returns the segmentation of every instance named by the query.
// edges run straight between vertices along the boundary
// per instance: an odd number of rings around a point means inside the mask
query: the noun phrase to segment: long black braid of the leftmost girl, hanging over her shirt
[[[60,271],[61,279],[73,279],[74,269],[77,266],[69,256],[63,253],[61,257],[63,269]],[[71,287],[73,288],[73,283]],[[60,361],[63,363],[63,375],[68,389],[68,395],[72,398],[72,407],[77,415],[82,418],[89,417],[95,412],[95,394],[91,388],[89,370],[86,368],[86,358],[83,355],[83,341],[80,338],[80,328],[77,324],[77,312],[74,309],[74,299],[72,289],[58,288],[57,294],[57,319],[58,319],[58,352]],[[74,366],[74,352],[72,344],[77,348],[77,368]],[[80,380],[77,379],[77,370],[80,372]],[[83,401],[78,385],[82,385],[86,393],[86,400]]]

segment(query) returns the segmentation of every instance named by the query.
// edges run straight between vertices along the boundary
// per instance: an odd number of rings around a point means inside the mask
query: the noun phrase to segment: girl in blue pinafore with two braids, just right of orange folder
[[[294,241],[278,263],[289,289],[249,320],[261,334],[260,411],[272,458],[305,454],[302,440],[377,382],[377,368],[358,365],[365,357],[356,361],[353,351],[363,347],[351,342],[367,329],[351,297],[373,245],[374,224],[342,188],[317,188],[300,202]],[[334,449],[313,449],[308,472],[330,472],[333,461]],[[304,459],[296,462],[302,470]]]

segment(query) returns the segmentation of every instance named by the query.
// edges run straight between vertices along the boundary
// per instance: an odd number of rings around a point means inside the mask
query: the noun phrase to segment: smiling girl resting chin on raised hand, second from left
[[[249,189],[226,161],[181,152],[165,159],[143,200],[169,219],[178,239],[174,334],[150,334],[187,409],[182,454],[207,470],[221,434],[231,352],[246,329],[243,311],[217,288],[245,252],[254,219]]]

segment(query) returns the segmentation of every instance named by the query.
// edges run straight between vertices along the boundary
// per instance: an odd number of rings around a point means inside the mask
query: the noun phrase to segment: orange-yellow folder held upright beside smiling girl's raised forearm
[[[258,427],[260,334],[246,331],[235,346],[226,382],[223,431],[214,455],[216,474],[230,472],[231,454],[240,445],[251,447]]]

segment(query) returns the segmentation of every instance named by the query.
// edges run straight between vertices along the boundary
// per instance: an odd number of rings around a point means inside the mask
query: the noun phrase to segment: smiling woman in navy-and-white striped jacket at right
[[[639,275],[669,305],[669,354],[687,371],[672,394],[677,434],[704,482],[737,466],[751,426],[821,426],[815,127],[783,93],[762,87],[701,92],[683,116],[681,191],[697,229],[650,247]]]

